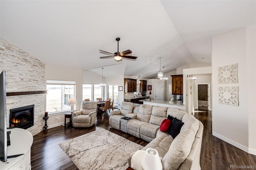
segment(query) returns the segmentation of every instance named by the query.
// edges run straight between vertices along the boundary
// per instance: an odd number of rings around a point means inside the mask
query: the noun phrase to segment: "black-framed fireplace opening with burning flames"
[[[26,129],[34,126],[34,106],[10,109],[10,127]]]

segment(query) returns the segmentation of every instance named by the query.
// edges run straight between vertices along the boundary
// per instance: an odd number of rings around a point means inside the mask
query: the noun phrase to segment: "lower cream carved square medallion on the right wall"
[[[218,86],[218,103],[238,106],[238,86]]]

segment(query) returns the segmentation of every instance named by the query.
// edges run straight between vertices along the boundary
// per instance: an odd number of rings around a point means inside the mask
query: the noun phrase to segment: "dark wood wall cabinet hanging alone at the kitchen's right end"
[[[171,75],[172,76],[172,94],[183,94],[183,75]]]

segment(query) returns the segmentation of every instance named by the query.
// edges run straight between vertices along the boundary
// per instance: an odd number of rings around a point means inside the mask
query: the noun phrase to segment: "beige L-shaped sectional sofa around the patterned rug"
[[[161,132],[161,122],[168,117],[176,117],[184,123],[175,138],[168,132]],[[130,117],[130,120],[121,119]],[[203,125],[194,116],[178,109],[140,105],[123,102],[120,111],[111,111],[110,127],[122,130],[148,143],[142,150],[154,148],[158,151],[164,170],[200,169],[200,151]],[[134,152],[135,153],[135,152]],[[131,153],[128,161],[131,166]]]

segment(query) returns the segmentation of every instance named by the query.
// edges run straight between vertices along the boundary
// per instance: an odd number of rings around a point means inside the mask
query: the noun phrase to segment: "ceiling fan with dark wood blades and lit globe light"
[[[116,38],[116,41],[117,41],[117,52],[109,53],[107,51],[103,51],[103,50],[100,49],[100,53],[102,53],[102,54],[106,54],[106,55],[110,55],[111,54],[110,56],[100,57],[100,59],[114,57],[115,61],[119,62],[119,61],[122,61],[122,58],[128,58],[128,59],[136,59],[136,58],[138,58],[138,57],[135,57],[135,56],[128,55],[128,54],[132,53],[132,51],[130,49],[120,53],[118,51],[118,47],[119,47],[118,42],[120,41],[120,38]]]

